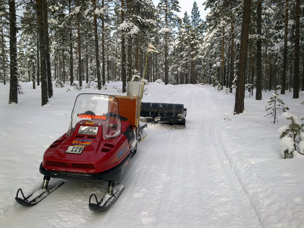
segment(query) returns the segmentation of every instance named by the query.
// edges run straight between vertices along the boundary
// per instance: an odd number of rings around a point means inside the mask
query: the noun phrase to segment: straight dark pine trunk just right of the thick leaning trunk
[[[261,36],[262,30],[262,0],[257,2],[257,35]],[[261,38],[257,39],[257,81],[255,99],[262,99],[262,45]]]

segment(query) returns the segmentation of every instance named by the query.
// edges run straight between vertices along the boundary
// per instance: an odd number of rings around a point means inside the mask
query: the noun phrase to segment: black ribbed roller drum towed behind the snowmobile
[[[140,108],[140,116],[152,118],[177,116],[183,112],[184,105],[182,104],[141,102]]]

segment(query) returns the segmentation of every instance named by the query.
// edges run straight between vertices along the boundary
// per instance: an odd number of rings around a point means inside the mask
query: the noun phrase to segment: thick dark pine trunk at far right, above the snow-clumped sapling
[[[293,77],[293,96],[299,98],[299,66],[300,66],[300,0],[295,1],[295,68]]]

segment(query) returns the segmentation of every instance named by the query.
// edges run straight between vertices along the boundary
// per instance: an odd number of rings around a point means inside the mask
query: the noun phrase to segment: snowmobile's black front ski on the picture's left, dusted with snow
[[[56,188],[60,187],[63,183],[64,183],[63,180],[56,179],[49,183],[47,189],[41,188],[36,192],[34,192],[33,194],[29,195],[28,197],[25,197],[22,192],[22,189],[19,188],[15,199],[17,203],[23,206],[34,206],[37,203],[39,203],[41,200],[43,200],[45,197],[50,195]],[[21,193],[23,199],[18,197],[19,192]]]

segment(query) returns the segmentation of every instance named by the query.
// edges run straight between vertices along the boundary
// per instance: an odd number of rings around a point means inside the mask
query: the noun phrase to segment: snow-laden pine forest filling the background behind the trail
[[[300,0],[206,0],[183,17],[177,0],[8,0],[0,3],[0,82],[18,103],[22,82],[102,89],[109,81],[162,79],[245,89],[304,90],[304,5]],[[161,54],[147,53],[152,43]],[[147,60],[147,61],[146,61]],[[145,71],[146,69],[146,71]],[[253,94],[252,94],[253,95]],[[240,99],[238,99],[240,98]],[[244,102],[235,113],[242,112]],[[242,107],[243,105],[243,107]]]

